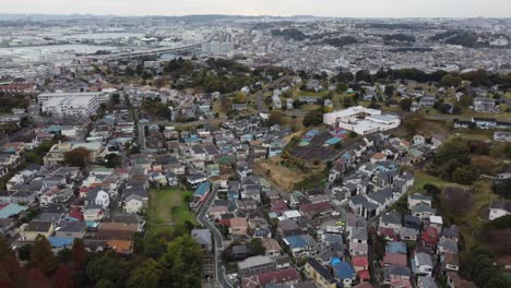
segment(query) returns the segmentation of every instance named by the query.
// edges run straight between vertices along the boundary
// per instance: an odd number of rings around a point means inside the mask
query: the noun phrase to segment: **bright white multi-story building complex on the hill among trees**
[[[360,135],[367,135],[395,129],[400,127],[401,119],[396,116],[382,115],[381,110],[356,106],[341,111],[324,113],[323,123],[355,131]]]

